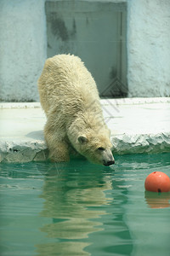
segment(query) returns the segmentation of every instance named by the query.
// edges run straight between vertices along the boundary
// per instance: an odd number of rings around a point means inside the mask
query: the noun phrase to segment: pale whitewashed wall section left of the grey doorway
[[[37,101],[47,49],[44,0],[1,0],[0,37],[0,100]]]

